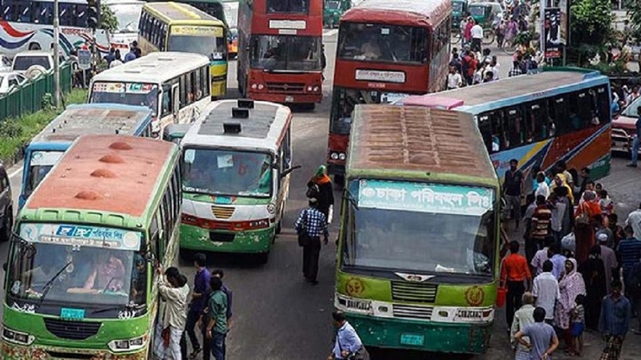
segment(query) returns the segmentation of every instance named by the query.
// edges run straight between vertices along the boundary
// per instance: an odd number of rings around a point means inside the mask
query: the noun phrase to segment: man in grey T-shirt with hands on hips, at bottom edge
[[[534,309],[533,318],[534,323],[526,325],[514,338],[530,349],[529,360],[549,359],[559,346],[556,332],[551,325],[545,323],[545,309],[542,307]],[[525,336],[528,336],[529,341],[524,339]]]

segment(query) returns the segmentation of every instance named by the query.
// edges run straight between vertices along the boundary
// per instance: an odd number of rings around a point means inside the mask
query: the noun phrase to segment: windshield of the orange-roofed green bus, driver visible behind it
[[[142,233],[22,224],[21,238],[26,242],[17,246],[23,249],[14,251],[10,262],[12,297],[42,304],[125,306],[146,302],[147,266],[142,254],[134,250],[140,249]]]

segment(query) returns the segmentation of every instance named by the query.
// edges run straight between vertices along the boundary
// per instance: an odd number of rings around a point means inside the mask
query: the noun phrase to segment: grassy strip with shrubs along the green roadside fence
[[[71,94],[67,95],[67,104],[85,101],[87,101],[87,90],[72,89]],[[0,161],[17,160],[16,156],[22,152],[24,145],[40,133],[54,117],[62,113],[62,110],[51,106],[51,94],[46,94],[41,103],[43,110],[0,121]]]

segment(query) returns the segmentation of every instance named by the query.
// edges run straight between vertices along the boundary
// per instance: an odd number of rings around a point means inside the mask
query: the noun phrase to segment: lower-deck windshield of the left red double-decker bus
[[[256,35],[252,39],[251,67],[265,70],[319,71],[320,37]]]

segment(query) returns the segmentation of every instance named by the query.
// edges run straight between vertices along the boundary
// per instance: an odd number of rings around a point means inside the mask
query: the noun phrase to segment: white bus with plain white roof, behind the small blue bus
[[[157,137],[169,124],[193,122],[211,102],[209,68],[203,55],[151,53],[94,76],[89,102],[149,107]]]

